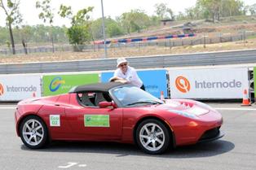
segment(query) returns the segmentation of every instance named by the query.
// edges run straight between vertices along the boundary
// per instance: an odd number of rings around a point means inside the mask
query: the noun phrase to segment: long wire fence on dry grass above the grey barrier
[[[208,37],[207,35],[201,35],[196,37],[183,37],[183,38],[174,38],[174,39],[165,39],[160,41],[143,41],[143,42],[130,42],[130,43],[113,43],[108,45],[110,50],[121,50],[122,48],[143,48],[145,46],[195,46],[195,45],[207,45],[220,42],[228,41],[245,41],[248,37],[256,37],[256,32],[244,32],[238,34],[229,34],[223,33],[215,37]],[[82,45],[82,46],[70,46],[62,45],[58,46],[40,46],[40,47],[28,47],[28,54],[33,53],[51,53],[51,52],[66,52],[66,51],[97,51],[104,49],[104,45]],[[16,54],[25,54],[24,48],[16,48]],[[0,50],[1,55],[11,55],[11,49],[2,49]]]

